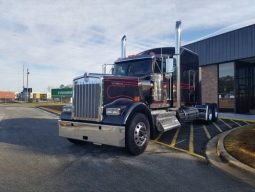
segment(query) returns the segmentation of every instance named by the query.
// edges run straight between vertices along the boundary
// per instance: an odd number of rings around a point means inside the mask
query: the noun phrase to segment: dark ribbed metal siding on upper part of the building
[[[184,46],[199,55],[200,65],[255,57],[255,25]]]

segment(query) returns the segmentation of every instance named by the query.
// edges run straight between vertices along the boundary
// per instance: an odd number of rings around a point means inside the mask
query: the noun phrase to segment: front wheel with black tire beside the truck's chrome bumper
[[[126,149],[132,155],[143,153],[150,139],[150,124],[148,118],[136,113],[126,126]]]

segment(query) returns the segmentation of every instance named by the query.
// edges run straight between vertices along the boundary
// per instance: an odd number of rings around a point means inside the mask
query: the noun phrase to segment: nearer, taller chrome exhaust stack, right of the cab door
[[[180,49],[181,49],[181,21],[176,21],[175,25],[175,58],[176,58],[176,77],[177,77],[177,82],[176,82],[176,93],[177,93],[177,103],[176,107],[180,108],[181,107],[181,58],[180,58]]]

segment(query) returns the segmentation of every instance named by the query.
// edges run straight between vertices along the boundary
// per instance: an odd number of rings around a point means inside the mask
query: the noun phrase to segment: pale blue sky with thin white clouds
[[[21,91],[23,66],[33,91],[72,84],[84,72],[127,54],[174,46],[255,23],[253,0],[0,0],[0,90]],[[26,78],[25,78],[26,86]]]

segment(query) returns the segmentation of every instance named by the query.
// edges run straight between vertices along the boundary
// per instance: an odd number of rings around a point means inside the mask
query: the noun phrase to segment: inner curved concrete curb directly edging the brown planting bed
[[[242,127],[238,127],[232,130],[229,130],[227,132],[224,132],[224,134],[222,134],[219,137],[218,140],[218,144],[217,144],[217,154],[220,156],[221,159],[223,159],[223,161],[226,161],[227,163],[229,163],[232,166],[235,166],[236,168],[239,168],[241,170],[247,171],[247,173],[249,174],[254,174],[255,176],[255,169],[253,169],[252,167],[240,162],[239,160],[237,160],[236,158],[234,158],[233,156],[231,156],[225,149],[224,147],[224,139],[225,137],[230,134],[232,131],[241,129]]]

